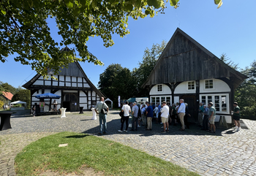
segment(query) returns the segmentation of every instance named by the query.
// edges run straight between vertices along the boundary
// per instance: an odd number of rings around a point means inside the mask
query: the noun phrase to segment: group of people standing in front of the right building
[[[107,104],[104,103],[104,98],[101,98],[101,101],[95,107],[95,111],[99,113],[99,126],[100,131],[99,134],[105,134],[107,129],[106,124],[106,114],[101,112],[104,106],[108,107]],[[238,103],[234,102],[234,111],[233,111],[233,119],[236,124],[236,131],[240,131],[240,108],[238,107]],[[169,131],[169,126],[177,126],[178,122],[181,123],[180,131],[184,131],[185,129],[189,129],[188,118],[191,116],[189,114],[188,104],[184,102],[184,99],[180,99],[179,103],[170,105],[170,103],[162,102],[162,104],[151,104],[150,102],[146,102],[146,104],[137,102],[129,103],[125,102],[121,105],[121,112],[119,113],[121,116],[121,129],[118,132],[127,132],[130,127],[130,131],[138,131],[138,127],[144,126],[144,128],[148,131],[152,130],[152,120],[155,119],[156,123],[161,123],[162,133],[166,133]],[[129,116],[132,116],[131,123],[129,123]],[[211,133],[216,133],[216,126],[214,124],[216,118],[216,109],[212,102],[208,102],[208,104],[200,103],[200,108],[198,110],[198,123],[200,123],[201,130],[209,131]],[[125,123],[125,129],[124,129]]]

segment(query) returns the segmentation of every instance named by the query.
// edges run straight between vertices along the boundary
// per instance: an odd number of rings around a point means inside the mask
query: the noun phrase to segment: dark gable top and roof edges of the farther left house
[[[68,47],[64,47],[61,49],[61,51],[68,51],[69,48]],[[72,72],[70,72],[70,70]],[[74,71],[74,72],[73,72]],[[48,74],[53,74],[51,71],[48,72]],[[67,74],[72,74],[72,75],[68,75],[68,76],[74,76],[74,77],[83,77],[86,79],[86,82],[90,85],[91,89],[94,90],[99,96],[105,97],[106,96],[99,91],[93,83],[91,83],[91,80],[89,80],[89,78],[86,76],[86,73],[83,72],[82,67],[80,66],[80,64],[75,61],[74,63],[69,63],[68,68],[64,67],[63,69],[60,69],[59,75],[67,75]],[[31,86],[34,84],[34,82],[41,76],[41,74],[36,74],[31,80],[29,80],[27,83],[25,83],[24,85],[22,85],[23,88],[26,89],[31,89]]]

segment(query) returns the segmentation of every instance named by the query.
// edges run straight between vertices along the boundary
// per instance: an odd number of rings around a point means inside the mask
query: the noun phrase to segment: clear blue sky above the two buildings
[[[169,41],[176,28],[181,28],[190,37],[219,57],[226,53],[242,69],[256,60],[256,1],[222,0],[222,7],[217,9],[214,0],[180,0],[178,9],[167,4],[165,14],[154,18],[129,19],[130,34],[121,38],[113,36],[115,45],[104,47],[102,39],[92,37],[87,43],[93,53],[105,66],[94,66],[91,63],[80,63],[87,77],[97,86],[99,74],[110,64],[121,64],[132,70],[142,61],[146,47]],[[56,24],[49,20],[53,28],[52,35],[57,42]],[[23,85],[37,74],[30,66],[23,66],[7,58],[0,63],[0,81],[14,87]]]

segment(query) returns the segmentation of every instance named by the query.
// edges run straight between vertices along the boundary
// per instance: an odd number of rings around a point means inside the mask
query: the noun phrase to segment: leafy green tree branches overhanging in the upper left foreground
[[[177,8],[179,0],[170,0]],[[214,0],[222,4],[221,0]],[[128,18],[135,20],[163,12],[164,0],[0,0],[0,61],[16,53],[15,61],[31,65],[42,75],[74,61],[89,61],[102,65],[89,52],[90,37],[101,37],[105,47],[114,44],[113,34],[129,34]],[[47,19],[54,18],[61,42],[50,36]],[[73,45],[69,52],[61,52],[62,45]],[[79,57],[76,57],[75,50]]]

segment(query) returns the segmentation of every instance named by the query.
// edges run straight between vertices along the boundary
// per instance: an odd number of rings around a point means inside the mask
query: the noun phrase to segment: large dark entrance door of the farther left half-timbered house
[[[79,111],[78,93],[63,93],[63,107],[67,108],[66,111],[74,112]]]

